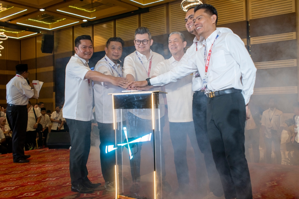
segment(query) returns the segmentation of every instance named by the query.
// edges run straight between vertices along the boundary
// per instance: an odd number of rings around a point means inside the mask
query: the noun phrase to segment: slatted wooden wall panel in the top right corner
[[[249,0],[249,19],[295,12],[295,0]]]

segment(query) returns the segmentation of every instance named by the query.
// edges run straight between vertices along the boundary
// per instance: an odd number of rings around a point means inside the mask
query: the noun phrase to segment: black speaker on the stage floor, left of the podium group
[[[69,132],[50,132],[46,140],[49,149],[69,149],[71,137]]]

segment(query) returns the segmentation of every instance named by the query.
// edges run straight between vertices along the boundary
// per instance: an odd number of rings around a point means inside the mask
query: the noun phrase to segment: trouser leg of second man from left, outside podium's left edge
[[[97,123],[100,129],[100,159],[101,169],[105,182],[115,181],[115,150],[106,153],[106,146],[115,145],[113,123]]]

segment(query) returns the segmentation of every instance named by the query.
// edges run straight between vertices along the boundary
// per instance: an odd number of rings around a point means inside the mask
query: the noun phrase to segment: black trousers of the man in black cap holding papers
[[[26,107],[7,106],[6,117],[12,134],[13,160],[24,157],[24,146],[28,123],[28,112]]]

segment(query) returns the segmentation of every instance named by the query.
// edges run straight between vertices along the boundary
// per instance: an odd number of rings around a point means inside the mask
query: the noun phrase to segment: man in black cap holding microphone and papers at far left
[[[28,99],[33,97],[33,85],[28,85],[28,65],[16,65],[16,76],[6,85],[7,122],[13,131],[13,162],[26,163],[30,155],[24,154],[26,129],[28,123]]]

